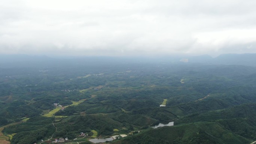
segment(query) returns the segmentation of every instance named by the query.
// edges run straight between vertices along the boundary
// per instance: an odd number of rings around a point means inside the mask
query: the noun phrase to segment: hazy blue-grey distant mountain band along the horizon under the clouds
[[[52,58],[49,56],[31,56],[31,55],[0,55],[0,67],[29,67],[29,65],[44,64],[62,65],[76,64],[78,62],[88,64],[132,64],[132,63],[201,63],[213,65],[247,65],[256,66],[256,53],[244,54],[221,54],[216,58],[209,55],[188,56],[188,55],[170,55],[170,56],[70,56],[61,58]]]

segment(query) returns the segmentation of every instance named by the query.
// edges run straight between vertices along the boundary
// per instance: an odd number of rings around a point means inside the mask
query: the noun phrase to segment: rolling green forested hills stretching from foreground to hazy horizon
[[[107,143],[250,144],[256,141],[256,67],[249,62],[253,54],[244,55],[226,55],[225,62],[225,55],[183,62],[179,56],[1,57],[1,138],[90,143],[126,134]],[[174,126],[151,127],[159,122]]]

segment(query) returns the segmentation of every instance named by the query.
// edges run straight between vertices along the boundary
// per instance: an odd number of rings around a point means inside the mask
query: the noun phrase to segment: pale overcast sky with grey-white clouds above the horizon
[[[256,0],[1,0],[0,53],[256,53]]]

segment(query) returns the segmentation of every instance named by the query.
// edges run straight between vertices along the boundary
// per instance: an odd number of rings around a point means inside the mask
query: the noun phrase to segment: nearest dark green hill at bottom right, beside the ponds
[[[141,141],[143,140],[143,141]],[[250,141],[214,122],[165,126],[126,137],[114,144],[249,144]]]

